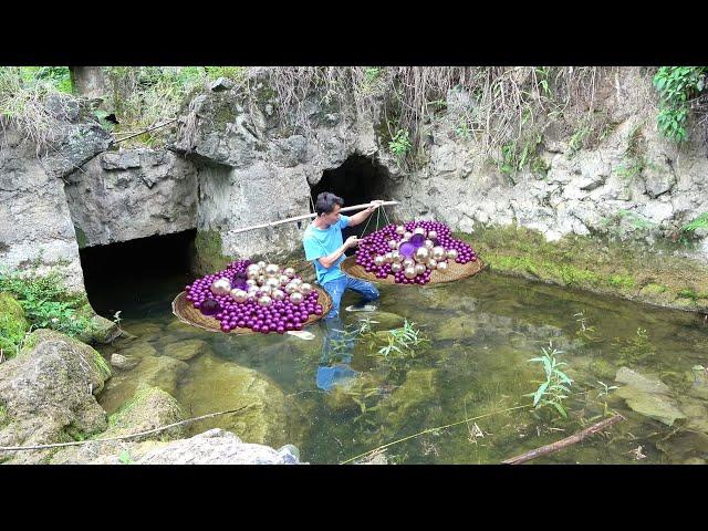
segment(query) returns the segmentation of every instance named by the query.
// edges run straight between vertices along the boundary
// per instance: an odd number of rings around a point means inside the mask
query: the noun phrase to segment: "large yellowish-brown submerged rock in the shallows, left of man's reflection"
[[[288,434],[289,412],[283,392],[251,368],[211,355],[199,356],[177,397],[194,416],[250,406],[236,414],[194,423],[191,434],[221,428],[232,431],[244,442],[273,447],[298,440]]]

